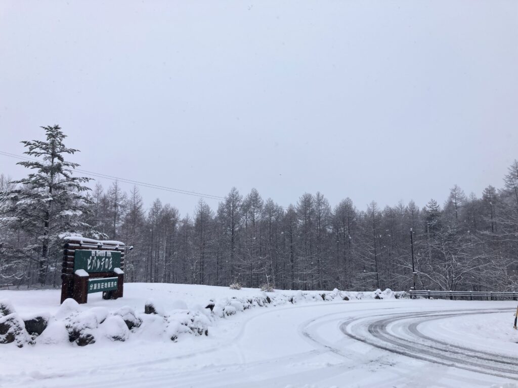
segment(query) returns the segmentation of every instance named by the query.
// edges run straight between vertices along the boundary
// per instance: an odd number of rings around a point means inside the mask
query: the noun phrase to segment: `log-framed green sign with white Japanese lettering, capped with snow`
[[[61,303],[70,297],[87,303],[93,292],[103,292],[103,299],[122,297],[124,252],[132,248],[120,241],[65,237]]]

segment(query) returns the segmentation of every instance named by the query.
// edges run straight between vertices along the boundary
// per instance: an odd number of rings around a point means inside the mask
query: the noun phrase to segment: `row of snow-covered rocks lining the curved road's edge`
[[[233,289],[238,287],[238,283],[231,285]],[[15,342],[22,347],[24,344],[70,342],[75,346],[85,346],[97,341],[127,341],[134,336],[140,340],[176,342],[184,335],[209,335],[209,326],[215,320],[229,318],[253,307],[407,297],[405,292],[393,292],[390,289],[373,292],[340,291],[336,288],[330,292],[278,290],[270,295],[265,292],[272,290],[269,287],[260,293],[250,289],[241,290],[229,294],[236,296],[212,299],[203,305],[191,303],[191,309],[184,301],[177,300],[169,303],[168,311],[148,300],[140,313],[129,306],[111,312],[106,307],[88,308],[80,306],[73,299],[67,299],[54,316],[31,316],[25,321],[16,314],[8,301],[0,301],[0,344]],[[253,293],[250,294],[250,291]]]

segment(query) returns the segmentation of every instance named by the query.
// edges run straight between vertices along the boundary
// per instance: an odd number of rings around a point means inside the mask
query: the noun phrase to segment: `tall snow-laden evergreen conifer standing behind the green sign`
[[[7,193],[2,213],[11,214],[4,219],[11,228],[32,237],[33,244],[27,248],[37,255],[38,282],[45,285],[49,272],[56,271],[60,238],[90,228],[81,217],[88,212],[91,200],[85,195],[90,188],[83,185],[90,178],[73,176],[79,165],[64,158],[78,150],[65,146],[66,135],[58,125],[41,128],[45,141],[22,141],[27,148],[24,153],[37,160],[18,162],[33,172],[13,182],[19,187]]]

